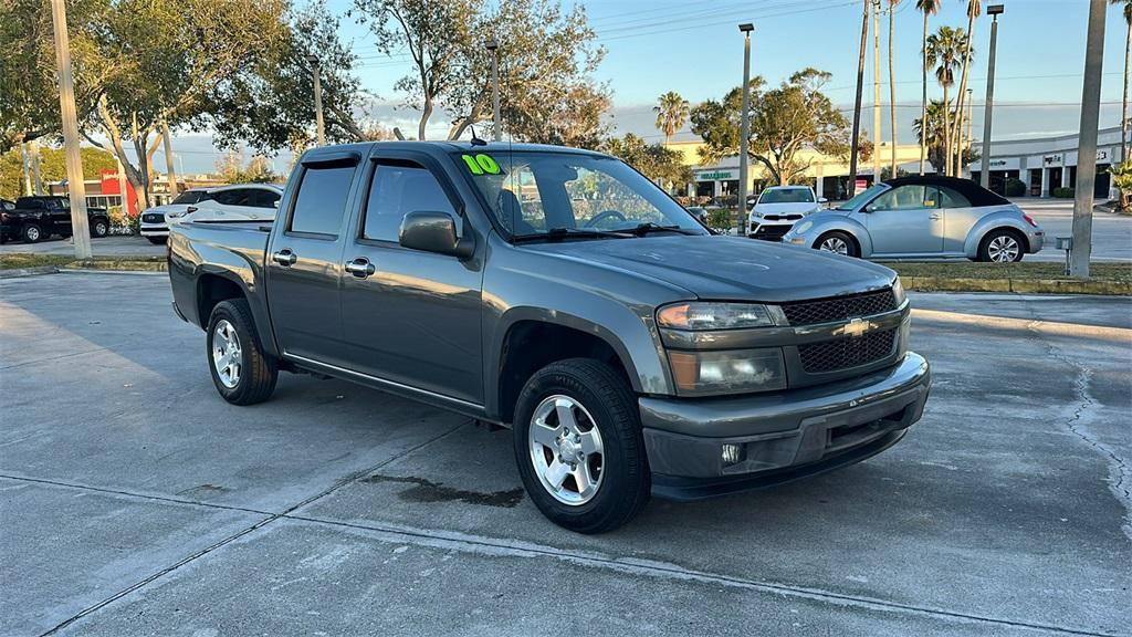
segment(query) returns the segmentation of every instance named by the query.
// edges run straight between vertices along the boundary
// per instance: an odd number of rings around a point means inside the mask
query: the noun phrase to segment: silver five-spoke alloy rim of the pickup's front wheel
[[[528,441],[534,473],[555,500],[577,507],[597,495],[604,448],[581,402],[563,394],[543,399],[531,416]]]

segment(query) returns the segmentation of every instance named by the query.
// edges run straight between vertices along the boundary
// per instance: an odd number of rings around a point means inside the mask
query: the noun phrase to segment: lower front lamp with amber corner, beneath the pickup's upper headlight
[[[782,350],[669,351],[672,380],[681,396],[714,396],[786,388]]]

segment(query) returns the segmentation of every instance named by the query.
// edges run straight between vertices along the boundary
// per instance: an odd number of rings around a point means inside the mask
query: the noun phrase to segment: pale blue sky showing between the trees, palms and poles
[[[882,0],[886,6],[887,0]],[[606,59],[599,80],[614,91],[612,121],[616,131],[633,131],[659,139],[652,126],[651,107],[658,95],[676,91],[693,104],[721,96],[741,83],[743,39],[737,25],[753,22],[752,73],[777,84],[795,70],[812,66],[833,74],[826,92],[839,107],[850,109],[857,53],[860,43],[861,0],[746,0],[691,2],[675,0],[565,0],[585,7]],[[919,49],[921,16],[916,0],[902,0],[895,12],[895,76],[898,135],[911,139],[911,120],[919,116]],[[988,2],[984,0],[984,10]],[[995,138],[1073,133],[1080,118],[1088,0],[1001,0],[998,61],[995,84]],[[331,0],[332,10],[344,11],[350,0]],[[967,25],[966,0],[943,0],[931,28]],[[1101,90],[1101,126],[1120,118],[1124,63],[1125,23],[1118,9],[1108,10],[1105,37],[1105,75]],[[970,87],[975,90],[975,136],[981,136],[983,94],[986,87],[986,53],[990,19],[976,22],[976,59]],[[377,52],[368,31],[343,20],[342,36],[361,57],[359,76],[377,96],[370,116],[389,125],[415,129],[415,113],[404,105],[394,83],[411,70],[405,54]],[[872,34],[869,34],[872,45]],[[882,103],[887,101],[887,22],[882,15]],[[866,67],[871,83],[872,52]],[[931,79],[929,79],[931,82]],[[929,95],[940,96],[932,82]],[[872,103],[866,85],[865,103]],[[848,113],[847,113],[848,114]],[[436,129],[447,128],[445,116],[435,116]],[[882,134],[887,135],[887,114]],[[872,112],[863,116],[872,126]],[[694,138],[685,131],[681,138]],[[181,142],[189,171],[208,170],[206,137]],[[175,153],[175,150],[174,150]],[[158,160],[163,161],[163,160]]]

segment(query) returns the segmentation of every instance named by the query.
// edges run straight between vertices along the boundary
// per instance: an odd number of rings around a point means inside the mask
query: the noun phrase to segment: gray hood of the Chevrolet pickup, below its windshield
[[[739,237],[658,235],[531,244],[523,249],[663,281],[713,300],[822,298],[884,288],[895,278],[892,270],[867,261]]]

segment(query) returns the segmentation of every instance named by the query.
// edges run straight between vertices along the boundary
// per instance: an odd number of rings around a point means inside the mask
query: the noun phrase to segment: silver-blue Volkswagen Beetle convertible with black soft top
[[[782,241],[863,258],[1007,263],[1041,249],[1045,232],[1010,201],[969,179],[901,177],[811,214]]]

